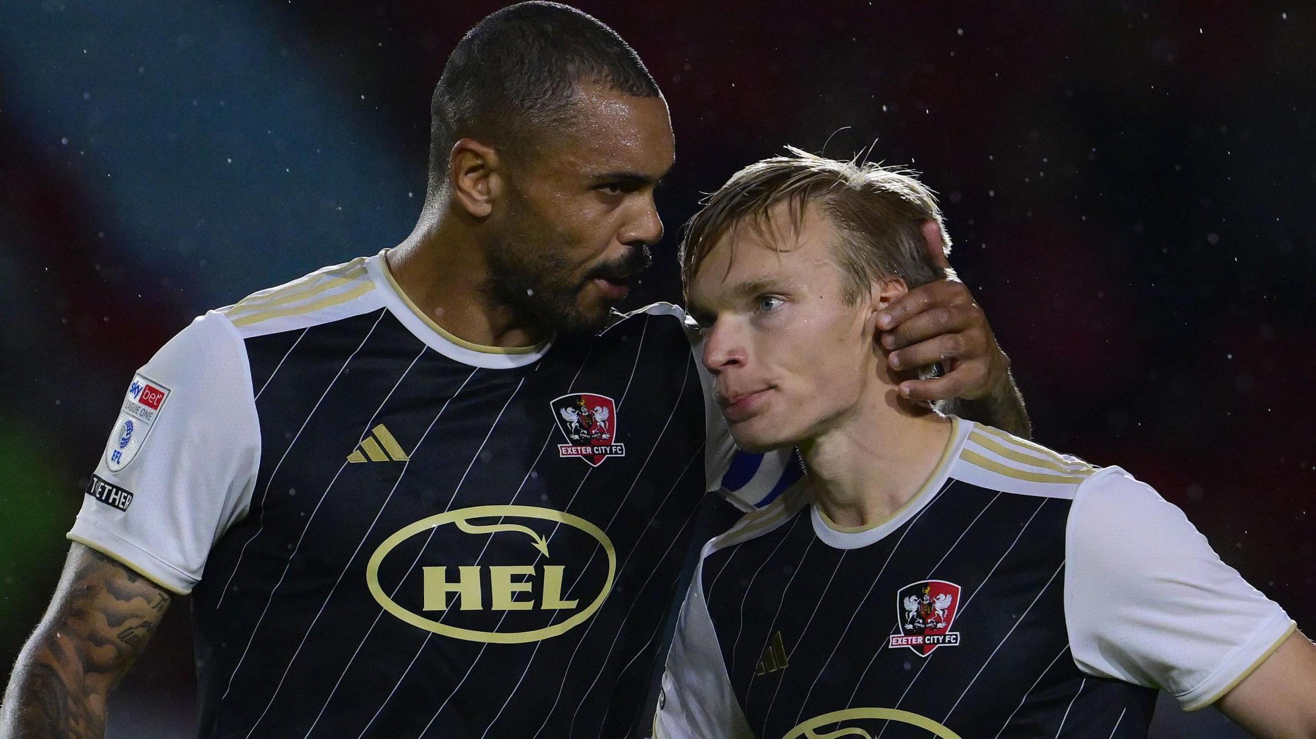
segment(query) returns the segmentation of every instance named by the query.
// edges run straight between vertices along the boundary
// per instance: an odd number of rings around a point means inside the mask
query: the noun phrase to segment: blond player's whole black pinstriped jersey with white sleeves
[[[1123,469],[953,422],[887,521],[799,484],[705,546],[658,736],[1146,736],[1154,689],[1208,705],[1292,632]]]

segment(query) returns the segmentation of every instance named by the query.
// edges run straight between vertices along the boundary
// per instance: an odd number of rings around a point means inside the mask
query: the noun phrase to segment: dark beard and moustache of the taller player
[[[555,252],[554,241],[524,238],[536,233],[530,229],[515,231],[522,238],[500,239],[490,250],[490,293],[499,302],[525,310],[566,337],[599,333],[612,321],[608,306],[597,314],[580,309],[580,292],[590,280],[621,280],[644,271],[653,260],[649,247],[640,246],[579,277],[571,264]]]

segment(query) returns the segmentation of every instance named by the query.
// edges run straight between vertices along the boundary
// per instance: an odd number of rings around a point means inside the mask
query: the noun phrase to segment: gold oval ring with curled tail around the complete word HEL
[[[586,606],[580,613],[572,615],[571,618],[563,621],[562,623],[554,623],[551,626],[545,626],[544,629],[536,629],[532,631],[476,631],[472,629],[462,629],[459,626],[450,626],[447,623],[440,623],[434,619],[425,618],[424,615],[412,613],[403,606],[397,605],[392,598],[384,593],[384,589],[379,585],[379,565],[383,563],[384,558],[388,556],[397,544],[405,542],[407,539],[415,536],[416,534],[428,531],[430,529],[437,529],[447,523],[455,525],[461,531],[467,534],[495,534],[500,531],[519,531],[526,534],[534,539],[534,547],[541,552],[547,554],[547,540],[538,535],[533,529],[528,526],[520,526],[515,523],[499,523],[499,525],[475,525],[471,519],[478,518],[537,518],[541,521],[553,521],[557,523],[565,523],[578,531],[588,534],[591,538],[599,542],[599,546],[608,554],[608,577],[603,584],[603,589],[599,592],[599,597],[594,600],[588,606]],[[612,592],[612,580],[617,573],[617,552],[612,546],[612,539],[603,533],[601,529],[590,523],[579,515],[571,515],[570,513],[563,513],[561,510],[553,510],[550,508],[536,508],[529,505],[480,505],[474,508],[463,508],[459,510],[450,510],[447,513],[440,513],[438,515],[430,515],[429,518],[422,518],[411,526],[407,526],[384,539],[375,554],[370,555],[370,561],[366,564],[366,585],[370,588],[370,594],[375,597],[380,606],[388,613],[396,615],[397,618],[416,626],[418,629],[425,629],[426,631],[433,631],[434,634],[442,634],[445,636],[451,636],[454,639],[465,639],[467,642],[486,642],[494,644],[521,644],[525,642],[538,642],[541,639],[549,639],[551,636],[558,636],[566,634],[571,629],[579,626],[587,618],[594,615],[594,611],[599,610],[603,601],[608,598]]]

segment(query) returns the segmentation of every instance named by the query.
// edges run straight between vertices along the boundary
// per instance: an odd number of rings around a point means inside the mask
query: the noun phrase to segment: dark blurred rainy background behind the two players
[[[675,300],[700,192],[795,143],[911,164],[1036,438],[1120,464],[1316,623],[1316,13],[1304,3],[584,3],[666,91]],[[0,8],[0,661],[136,367],[196,314],[411,230],[428,101],[497,3]],[[188,732],[186,606],[111,734]],[[1157,736],[1223,736],[1159,711]]]

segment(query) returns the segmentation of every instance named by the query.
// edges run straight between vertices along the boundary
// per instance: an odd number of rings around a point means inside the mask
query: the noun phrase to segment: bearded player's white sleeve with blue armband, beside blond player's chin
[[[708,492],[717,490],[741,510],[763,508],[804,475],[795,450],[749,454],[736,448],[730,429],[717,405],[713,376],[704,367],[704,343],[699,331],[688,330],[699,381],[704,388],[704,473]]]

